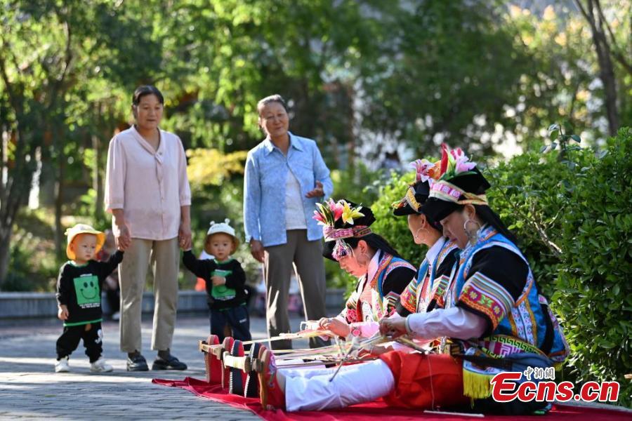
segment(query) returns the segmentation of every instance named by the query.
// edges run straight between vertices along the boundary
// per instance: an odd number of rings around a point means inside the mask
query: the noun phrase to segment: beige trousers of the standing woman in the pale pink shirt
[[[121,283],[121,351],[141,352],[140,315],[147,269],[154,274],[152,349],[171,347],[178,305],[178,238],[162,241],[132,239],[119,265]]]

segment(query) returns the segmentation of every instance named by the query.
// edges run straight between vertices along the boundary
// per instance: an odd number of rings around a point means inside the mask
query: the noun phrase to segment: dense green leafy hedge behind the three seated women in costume
[[[621,129],[605,149],[570,146],[563,154],[527,152],[490,165],[490,206],[518,236],[519,246],[551,298],[572,348],[568,380],[617,380],[619,403],[632,387],[632,131]],[[476,161],[476,160],[475,160]],[[391,214],[412,174],[393,175],[371,205],[374,231],[419,265],[406,218]]]

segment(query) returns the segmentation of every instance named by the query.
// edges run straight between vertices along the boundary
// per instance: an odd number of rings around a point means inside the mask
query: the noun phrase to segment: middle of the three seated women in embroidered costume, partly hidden
[[[400,316],[443,307],[443,295],[458,250],[456,242],[443,236],[441,224],[428,218],[421,210],[430,194],[430,186],[440,175],[440,162],[418,159],[412,165],[416,170],[415,182],[408,187],[402,200],[393,203],[393,214],[407,215],[408,227],[415,243],[428,247],[428,251],[417,276],[400,295],[397,304],[397,314]]]

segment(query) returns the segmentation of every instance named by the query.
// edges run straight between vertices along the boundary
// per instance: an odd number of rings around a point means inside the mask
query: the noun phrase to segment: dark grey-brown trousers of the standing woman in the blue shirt
[[[303,309],[308,320],[326,316],[324,261],[320,240],[308,241],[306,229],[289,229],[287,243],[265,248],[263,277],[267,290],[268,335],[289,333],[287,302],[291,272],[296,272],[301,288]],[[291,340],[270,342],[272,349],[290,349]],[[322,347],[327,342],[311,338],[310,347]]]

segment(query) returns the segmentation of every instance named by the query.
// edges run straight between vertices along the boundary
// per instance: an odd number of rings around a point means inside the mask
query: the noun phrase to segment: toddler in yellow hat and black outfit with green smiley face
[[[112,366],[101,356],[101,287],[123,260],[123,252],[117,250],[107,262],[97,262],[93,259],[105,242],[103,232],[90,225],[77,224],[65,234],[68,236],[66,255],[70,260],[61,267],[57,280],[58,317],[64,321],[64,332],[57,340],[55,373],[70,371],[68,359],[82,339],[90,370],[112,371]]]

